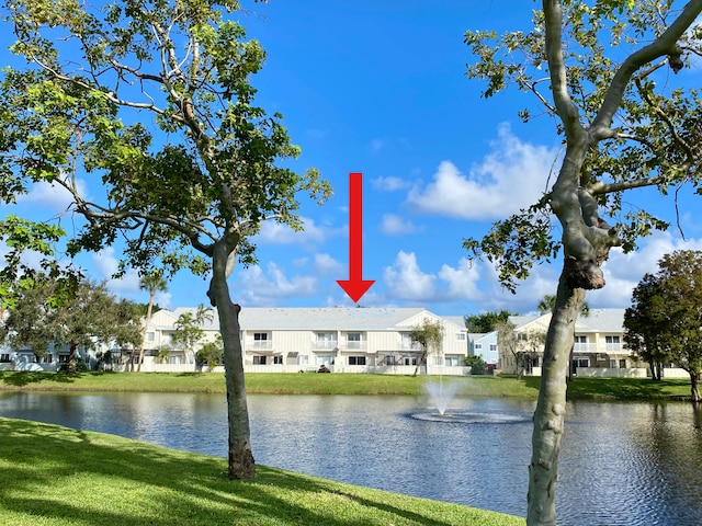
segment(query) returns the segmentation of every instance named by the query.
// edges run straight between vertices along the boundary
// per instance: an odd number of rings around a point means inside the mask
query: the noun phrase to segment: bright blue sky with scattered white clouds
[[[466,30],[528,30],[534,5],[512,0],[247,5],[238,19],[268,53],[253,78],[258,103],[285,116],[303,149],[294,165],[318,168],[335,196],[322,207],[304,202],[304,232],[264,225],[256,239],[260,264],[235,271],[233,299],[245,307],[353,305],[336,283],[348,277],[349,172],[363,173],[363,277],[376,281],[360,305],[419,306],[458,316],[525,313],[554,294],[559,263],[536,267],[512,295],[500,288],[489,264],[471,263],[462,248],[464,238],[482,236],[491,221],[532,204],[546,188],[559,151],[553,121],[523,124],[517,117],[519,110],[533,107],[529,94],[514,90],[486,101],[482,85],[464,75],[471,61]],[[673,201],[654,191],[635,191],[625,201],[675,217]],[[3,215],[31,209],[35,218],[49,218],[65,207],[65,196],[39,186],[18,210]],[[664,253],[702,249],[691,192],[681,193],[680,208],[687,241],[673,228],[643,241],[635,254],[614,250],[604,266],[608,285],[588,295],[590,307],[626,307],[633,286],[655,272]],[[110,278],[118,256],[107,250],[79,262],[102,279]],[[148,298],[135,273],[110,286],[121,296]],[[196,306],[206,302],[206,286],[182,272],[157,300],[171,308]]]

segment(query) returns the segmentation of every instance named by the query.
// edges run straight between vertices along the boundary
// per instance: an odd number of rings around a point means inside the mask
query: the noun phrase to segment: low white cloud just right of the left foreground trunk
[[[269,263],[264,273],[260,266],[251,266],[239,273],[242,302],[250,306],[275,305],[279,298],[313,296],[317,293],[314,276],[287,278],[275,263]]]

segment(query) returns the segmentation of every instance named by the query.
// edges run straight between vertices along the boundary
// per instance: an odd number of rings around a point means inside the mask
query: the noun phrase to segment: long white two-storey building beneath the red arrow
[[[195,356],[173,345],[176,321],[185,311],[159,310],[146,333],[141,370],[194,370]],[[203,324],[201,343],[219,331],[216,311]],[[467,331],[457,317],[443,318],[420,308],[244,308],[239,315],[247,373],[297,373],[322,365],[336,373],[411,374],[421,355],[410,331],[424,320],[440,323],[441,348],[428,356],[421,373],[466,375]],[[159,350],[168,364],[157,364]],[[163,354],[163,353],[162,353]],[[166,367],[165,367],[166,365]]]

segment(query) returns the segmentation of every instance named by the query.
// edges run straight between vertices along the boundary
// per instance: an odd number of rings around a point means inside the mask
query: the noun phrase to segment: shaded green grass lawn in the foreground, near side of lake
[[[0,419],[4,526],[523,526],[520,517],[280,469],[226,480],[226,459]]]

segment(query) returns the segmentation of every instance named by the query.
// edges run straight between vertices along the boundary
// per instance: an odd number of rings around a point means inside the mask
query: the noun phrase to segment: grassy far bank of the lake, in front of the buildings
[[[408,395],[423,393],[428,380],[438,377],[353,374],[265,374],[246,375],[251,395]],[[469,376],[444,377],[457,382],[463,397],[519,398],[535,400],[536,377]],[[116,392],[206,392],[224,393],[224,375],[218,373],[56,373],[0,371],[0,390],[66,390]],[[568,384],[570,400],[681,400],[690,396],[690,381],[647,378],[574,378]]]

